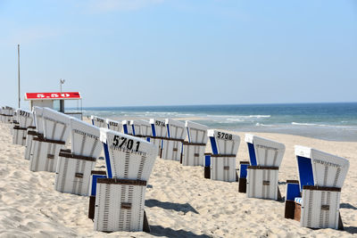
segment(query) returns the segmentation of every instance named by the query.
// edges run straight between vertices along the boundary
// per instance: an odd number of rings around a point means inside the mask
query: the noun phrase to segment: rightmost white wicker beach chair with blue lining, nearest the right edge
[[[295,155],[299,180],[286,181],[285,217],[302,227],[343,230],[340,197],[349,161],[299,145]]]

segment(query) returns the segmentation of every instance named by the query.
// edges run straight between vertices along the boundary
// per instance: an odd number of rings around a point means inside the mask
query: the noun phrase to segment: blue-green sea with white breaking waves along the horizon
[[[117,120],[188,119],[211,128],[238,132],[357,142],[357,103],[87,107],[83,108],[83,115]]]

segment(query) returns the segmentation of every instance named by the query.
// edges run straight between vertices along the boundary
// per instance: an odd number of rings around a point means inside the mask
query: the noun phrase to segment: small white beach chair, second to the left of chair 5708
[[[187,136],[185,123],[179,120],[166,119],[167,136],[162,138],[162,159],[176,160],[181,159],[182,143]]]

